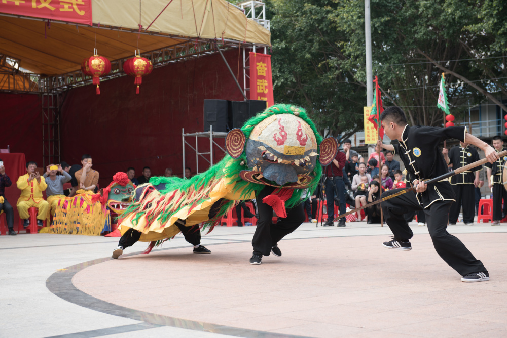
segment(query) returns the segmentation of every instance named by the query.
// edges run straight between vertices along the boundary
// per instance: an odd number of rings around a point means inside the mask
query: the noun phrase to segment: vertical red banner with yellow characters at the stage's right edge
[[[274,105],[271,55],[250,52],[250,100],[267,101]]]

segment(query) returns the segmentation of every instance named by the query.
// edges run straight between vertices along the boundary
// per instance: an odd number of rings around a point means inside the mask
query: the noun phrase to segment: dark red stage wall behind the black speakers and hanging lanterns
[[[224,56],[233,70],[239,66],[242,83],[238,51]],[[132,78],[125,76],[101,81],[100,95],[95,86],[72,89],[63,103],[61,159],[79,164],[83,154],[90,154],[100,173],[100,187],[129,166],[135,168],[136,177],[143,166],[151,167],[152,176],[164,175],[166,167],[181,175],[182,128],[186,133],[204,131],[204,99],[243,100],[219,54],[155,68],[143,77],[140,94],[135,89]],[[189,141],[195,147],[195,138]],[[223,139],[216,141],[223,145]],[[199,150],[209,151],[209,139],[199,138]],[[186,164],[195,173],[195,152],[188,146],[185,151]],[[216,163],[223,153],[216,147],[213,152]],[[200,172],[208,166],[199,160]]]

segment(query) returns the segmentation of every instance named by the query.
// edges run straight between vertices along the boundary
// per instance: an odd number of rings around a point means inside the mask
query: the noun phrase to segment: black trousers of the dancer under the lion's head
[[[278,243],[283,237],[296,230],[305,221],[303,203],[292,209],[286,209],[287,217],[280,218],[278,223],[272,223],[273,208],[262,199],[270,195],[275,187],[267,186],[257,195],[257,208],[259,210],[259,221],[253,234],[253,252],[269,256],[271,247]]]

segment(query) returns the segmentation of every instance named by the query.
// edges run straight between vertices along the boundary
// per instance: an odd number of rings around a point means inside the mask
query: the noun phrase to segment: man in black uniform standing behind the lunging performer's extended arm
[[[444,154],[447,165],[452,164],[452,170],[479,160],[477,150],[461,141],[459,141],[459,147],[451,148],[449,152],[444,148],[442,154]],[[463,204],[463,223],[474,224],[475,187],[479,185],[479,171],[481,169],[482,165],[479,165],[451,177],[451,186],[456,194],[456,201],[451,205],[449,225],[455,225],[458,221],[461,204]]]

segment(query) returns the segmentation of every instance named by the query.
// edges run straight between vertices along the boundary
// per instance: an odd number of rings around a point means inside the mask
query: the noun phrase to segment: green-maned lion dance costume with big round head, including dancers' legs
[[[301,198],[319,183],[322,165],[330,164],[338,143],[322,140],[304,109],[274,105],[231,130],[227,155],[190,180],[154,177],[137,187],[135,201],[120,220],[122,234],[113,251],[118,258],[136,241],[151,242],[144,253],[182,232],[194,252],[209,253],[200,245],[200,231],[208,233],[239,201],[257,198],[259,222],[252,245],[254,257],[280,256],[277,242],[304,221]],[[306,196],[303,195],[304,189]],[[281,218],[271,224],[272,210]]]

